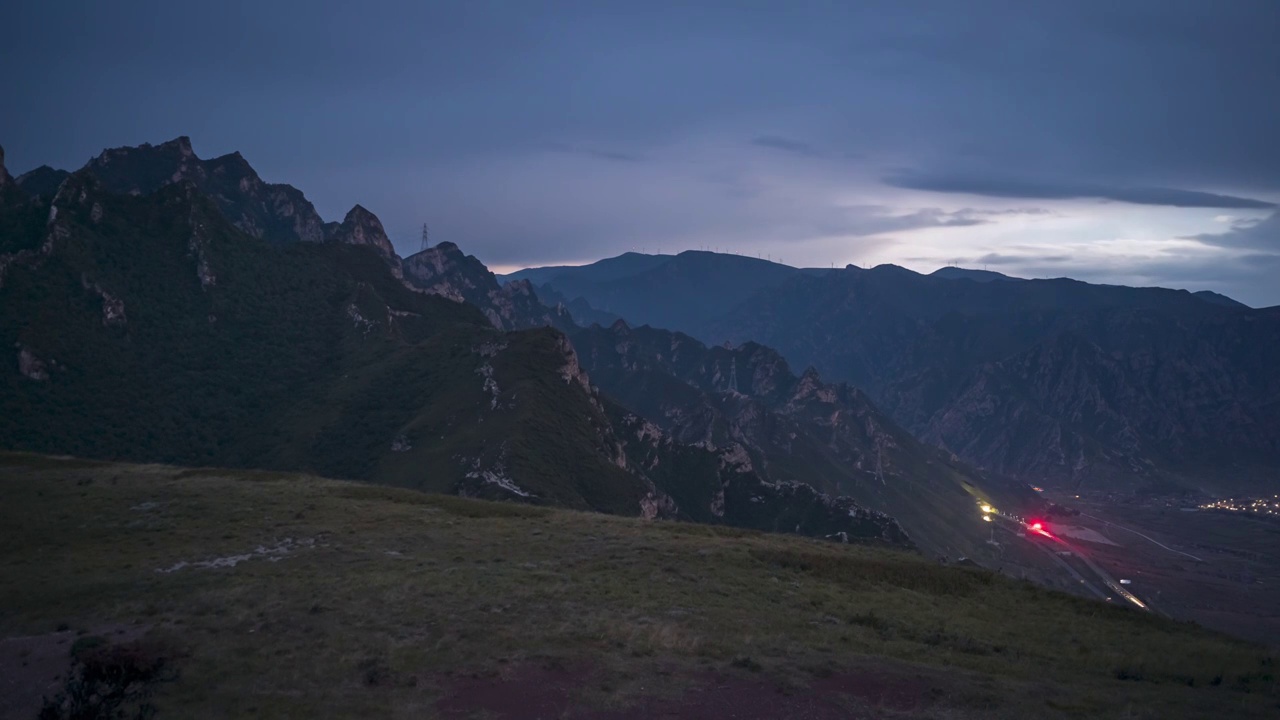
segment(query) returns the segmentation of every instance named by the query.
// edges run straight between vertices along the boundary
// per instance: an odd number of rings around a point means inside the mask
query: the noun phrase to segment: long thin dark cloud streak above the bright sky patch
[[[1038,200],[1079,200],[1098,199],[1133,202],[1135,205],[1167,205],[1171,208],[1230,208],[1263,210],[1275,208],[1275,202],[1216,195],[1194,190],[1169,187],[1107,187],[1091,183],[1041,183],[1006,178],[947,177],[918,173],[896,173],[884,178],[887,184],[908,190],[928,190],[932,192],[957,192],[965,195],[986,195],[989,197],[1018,197]]]

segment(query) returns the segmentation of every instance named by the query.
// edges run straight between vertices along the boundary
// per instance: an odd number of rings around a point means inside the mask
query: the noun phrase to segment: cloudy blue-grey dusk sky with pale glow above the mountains
[[[26,3],[12,172],[192,137],[495,269],[708,247],[1280,304],[1276,0]]]

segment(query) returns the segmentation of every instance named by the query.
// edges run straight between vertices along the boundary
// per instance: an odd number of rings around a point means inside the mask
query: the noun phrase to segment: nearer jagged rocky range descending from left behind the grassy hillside
[[[499,284],[453,243],[401,259],[369,210],[326,223],[238,154],[202,160],[178,138],[73,173],[3,172],[0,228],[8,448],[308,470],[938,555],[975,534],[899,521],[841,495],[856,489],[846,478],[783,473],[764,441],[691,439],[593,384],[563,332],[572,316],[530,283]],[[881,421],[858,452],[877,433],[909,442]],[[916,450],[886,452],[879,480],[911,480]],[[987,480],[945,473],[977,525]]]

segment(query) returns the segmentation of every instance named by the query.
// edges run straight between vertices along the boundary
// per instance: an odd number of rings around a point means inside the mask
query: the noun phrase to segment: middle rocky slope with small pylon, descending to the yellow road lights
[[[937,555],[972,556],[982,542],[974,489],[1010,506],[1033,501],[918,442],[856,389],[812,369],[796,377],[760,345],[708,347],[622,322],[570,337],[602,389],[677,442],[713,450],[769,487],[812,487],[883,511]]]

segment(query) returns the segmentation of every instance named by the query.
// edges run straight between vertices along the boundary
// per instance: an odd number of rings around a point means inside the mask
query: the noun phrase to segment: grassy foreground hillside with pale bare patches
[[[142,667],[160,717],[1280,708],[1257,647],[895,551],[32,455],[0,497],[0,716],[73,651]]]

